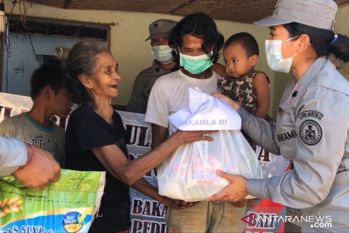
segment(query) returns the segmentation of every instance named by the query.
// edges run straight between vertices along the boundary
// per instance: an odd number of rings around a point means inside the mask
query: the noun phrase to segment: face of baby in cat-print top
[[[251,72],[251,59],[240,44],[231,44],[223,50],[225,72],[230,77],[240,78]]]

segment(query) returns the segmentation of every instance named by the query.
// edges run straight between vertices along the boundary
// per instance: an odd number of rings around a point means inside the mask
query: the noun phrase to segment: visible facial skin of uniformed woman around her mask
[[[270,37],[268,40],[285,41],[281,45],[282,58],[289,58],[297,53],[296,43],[292,40],[286,41],[287,39],[291,38],[291,35],[282,25],[272,26],[269,27],[269,29]]]

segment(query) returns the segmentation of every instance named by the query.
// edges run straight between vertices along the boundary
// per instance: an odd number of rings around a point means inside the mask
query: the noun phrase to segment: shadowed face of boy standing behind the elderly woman
[[[72,111],[72,96],[66,88],[59,89],[57,94],[53,90],[51,92],[50,106],[53,108],[53,114],[59,118],[67,118],[70,111]]]

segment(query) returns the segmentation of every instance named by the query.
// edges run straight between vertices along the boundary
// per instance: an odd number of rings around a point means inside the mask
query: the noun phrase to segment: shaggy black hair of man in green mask
[[[195,13],[185,16],[179,21],[176,26],[169,32],[169,46],[174,49],[177,46],[181,46],[183,42],[183,35],[190,34],[198,38],[202,38],[205,41],[202,44],[202,49],[209,53],[211,52],[211,46],[216,45],[212,57],[213,63],[219,58],[219,52],[221,51],[224,44],[224,37],[217,31],[215,21],[204,13]],[[210,51],[207,51],[209,47]],[[174,61],[179,66],[179,54],[172,51]],[[177,67],[179,68],[179,67]]]

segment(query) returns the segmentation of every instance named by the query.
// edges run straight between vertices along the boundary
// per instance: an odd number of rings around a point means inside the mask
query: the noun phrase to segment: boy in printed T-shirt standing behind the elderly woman
[[[51,116],[66,118],[73,105],[66,88],[63,67],[47,64],[31,76],[29,112],[5,119],[0,123],[0,136],[12,137],[50,152],[64,167],[65,131],[51,122]]]

